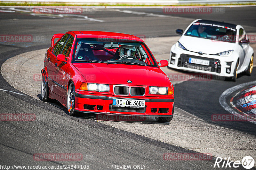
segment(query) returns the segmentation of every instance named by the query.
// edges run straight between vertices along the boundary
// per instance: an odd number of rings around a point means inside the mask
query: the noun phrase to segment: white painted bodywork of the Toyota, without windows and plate
[[[234,69],[236,69],[236,63],[238,63],[238,70],[237,73],[242,73],[247,70],[247,67],[250,63],[251,56],[253,55],[253,49],[249,44],[239,44],[238,40],[236,40],[236,43],[231,42],[223,42],[223,41],[217,41],[217,40],[211,40],[206,38],[199,38],[199,37],[192,37],[184,35],[189,27],[196,21],[201,20],[197,19],[193,21],[183,32],[178,42],[182,44],[187,50],[183,50],[181,48],[178,48],[176,44],[174,44],[171,47],[170,51],[170,59],[169,59],[169,67],[180,69],[184,71],[190,71],[190,72],[196,72],[196,73],[204,73],[204,74],[213,74],[213,75],[219,75],[219,76],[225,76],[225,77],[233,77]],[[236,30],[239,30],[240,28],[244,29],[241,25],[236,25]],[[237,32],[237,39],[238,39],[238,31]],[[246,35],[247,36],[247,35]],[[220,56],[220,55],[214,55],[218,54],[224,51],[233,50],[233,53],[229,56]],[[203,54],[200,55],[198,52],[202,52]],[[175,59],[174,64],[171,63],[171,55],[172,53],[175,53],[175,57],[172,57],[172,59]],[[221,70],[220,73],[212,72],[212,71],[205,71],[200,69],[194,69],[194,68],[188,68],[188,67],[178,67],[178,59],[180,58],[180,54],[187,54],[189,57],[197,56],[202,58],[211,58],[211,59],[218,59],[220,60]],[[207,59],[206,59],[207,60]],[[232,62],[233,61],[233,62]],[[226,62],[232,62],[231,64],[231,71],[230,73],[226,73],[226,68],[229,68],[230,66],[227,65]],[[199,65],[200,66],[200,65]]]

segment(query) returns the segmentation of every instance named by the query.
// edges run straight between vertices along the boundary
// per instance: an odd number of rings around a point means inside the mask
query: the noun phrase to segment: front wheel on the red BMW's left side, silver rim
[[[67,96],[67,109],[68,115],[75,116],[75,85],[71,82],[68,86],[68,96]]]

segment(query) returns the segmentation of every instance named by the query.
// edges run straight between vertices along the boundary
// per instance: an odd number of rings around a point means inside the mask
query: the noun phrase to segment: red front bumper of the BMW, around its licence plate
[[[113,98],[145,100],[145,108],[113,107]],[[95,96],[76,92],[75,111],[130,116],[172,116],[174,97]],[[89,107],[88,107],[89,106]],[[153,109],[152,109],[153,108]]]

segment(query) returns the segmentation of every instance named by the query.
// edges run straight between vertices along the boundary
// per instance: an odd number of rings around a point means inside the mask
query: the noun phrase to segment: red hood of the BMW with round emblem
[[[169,87],[170,80],[157,67],[125,64],[73,63],[88,83]],[[127,83],[131,80],[132,83]]]

